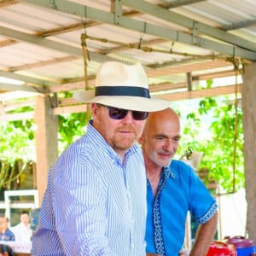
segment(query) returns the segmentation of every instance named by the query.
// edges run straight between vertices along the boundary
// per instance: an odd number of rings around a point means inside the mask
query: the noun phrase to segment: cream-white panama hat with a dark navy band
[[[141,64],[125,65],[118,61],[102,63],[96,73],[95,90],[76,92],[73,98],[79,102],[146,112],[169,108],[171,103],[150,98],[147,75]]]

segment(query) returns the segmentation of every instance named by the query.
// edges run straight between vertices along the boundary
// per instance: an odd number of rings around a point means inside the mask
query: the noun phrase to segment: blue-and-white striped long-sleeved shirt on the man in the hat
[[[33,255],[145,255],[146,173],[136,144],[124,163],[90,124],[49,171]]]

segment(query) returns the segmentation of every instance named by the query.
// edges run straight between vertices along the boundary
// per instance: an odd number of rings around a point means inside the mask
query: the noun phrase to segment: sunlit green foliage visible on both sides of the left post
[[[58,120],[58,147],[61,153],[70,143],[84,135],[87,114],[60,115]],[[0,160],[36,160],[35,131],[36,125],[31,119],[0,123]]]

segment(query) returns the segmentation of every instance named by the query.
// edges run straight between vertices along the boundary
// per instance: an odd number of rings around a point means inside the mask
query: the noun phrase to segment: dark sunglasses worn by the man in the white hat
[[[129,111],[131,111],[131,115],[135,120],[144,120],[148,117],[148,112],[114,108],[109,106],[105,106],[105,107],[108,108],[109,117],[111,119],[116,119],[116,120],[124,119]]]

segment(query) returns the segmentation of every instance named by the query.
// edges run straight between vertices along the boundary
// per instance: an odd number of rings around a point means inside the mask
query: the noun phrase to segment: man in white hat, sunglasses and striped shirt
[[[33,255],[145,255],[146,176],[141,136],[148,112],[169,107],[152,99],[140,64],[102,64],[86,135],[49,171]]]

